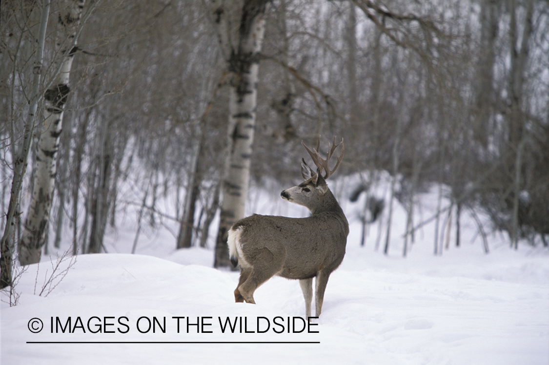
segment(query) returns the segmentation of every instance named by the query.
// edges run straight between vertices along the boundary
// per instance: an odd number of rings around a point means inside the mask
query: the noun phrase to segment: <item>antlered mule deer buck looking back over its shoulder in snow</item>
[[[322,159],[318,153],[320,138],[313,151],[304,142],[301,144],[311,155],[317,170],[313,171],[305,159],[301,159],[301,175],[305,181],[284,190],[281,196],[289,202],[307,207],[311,216],[249,216],[231,227],[228,246],[233,265],[240,266],[240,278],[234,290],[236,302],[255,304],[255,289],[275,275],[298,279],[305,298],[305,316],[309,320],[312,278],[316,278],[315,306],[318,317],[328,277],[341,264],[345,255],[349,223],[326,185],[326,179],[335,172],[343,159],[343,139],[335,144],[334,138],[332,146],[328,143],[326,159]],[[329,159],[339,145],[340,155],[335,167],[330,170]]]

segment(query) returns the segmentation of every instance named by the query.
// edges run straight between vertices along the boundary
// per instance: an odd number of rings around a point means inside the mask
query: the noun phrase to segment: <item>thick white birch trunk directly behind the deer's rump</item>
[[[231,148],[224,179],[215,267],[230,265],[227,232],[235,221],[244,218],[255,131],[259,52],[265,33],[267,2],[213,2],[223,57],[232,73],[228,141]]]

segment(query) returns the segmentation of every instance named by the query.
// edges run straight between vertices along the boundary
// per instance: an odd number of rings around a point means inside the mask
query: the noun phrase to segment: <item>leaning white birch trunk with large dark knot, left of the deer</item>
[[[44,93],[44,123],[36,146],[34,181],[29,214],[23,237],[19,243],[19,263],[34,264],[40,261],[44,237],[48,229],[52,207],[53,187],[57,173],[56,155],[61,135],[63,106],[69,94],[69,77],[76,52],[74,38],[80,25],[85,0],[66,0],[59,11],[59,30],[55,43],[54,70],[60,63],[60,72],[51,87]],[[65,48],[63,48],[65,47]]]

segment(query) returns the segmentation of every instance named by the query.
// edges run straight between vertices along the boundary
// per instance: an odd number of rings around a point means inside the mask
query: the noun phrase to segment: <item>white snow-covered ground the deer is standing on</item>
[[[416,224],[433,214],[437,192],[421,197]],[[256,193],[250,210],[305,214],[267,197],[278,192]],[[312,326],[294,318],[305,314],[297,281],[274,277],[257,289],[256,305],[236,304],[238,273],[212,269],[211,249],[175,252],[168,230],[145,230],[140,254],[128,254],[131,214],[109,233],[111,253],[77,256],[48,296],[37,293],[52,272],[49,259],[27,269],[16,286],[19,304],[2,303],[2,364],[549,364],[546,249],[511,250],[496,233],[484,254],[477,225],[464,214],[460,248],[433,255],[433,220],[402,258],[406,213],[395,201],[384,255],[384,235],[375,248],[384,225],[370,225],[361,247],[364,202],[340,202],[351,224],[347,253]],[[57,272],[69,265],[64,260]],[[34,318],[41,332],[33,333]]]

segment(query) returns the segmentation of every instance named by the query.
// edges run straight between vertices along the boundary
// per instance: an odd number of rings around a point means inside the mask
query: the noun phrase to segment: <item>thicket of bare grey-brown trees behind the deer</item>
[[[58,247],[70,226],[75,254],[102,252],[128,205],[138,207],[136,243],[142,225],[176,220],[175,247],[205,246],[221,204],[238,195],[229,178],[238,163],[226,156],[244,155],[259,184],[287,182],[299,175],[300,141],[318,134],[344,137],[340,174],[384,169],[399,179],[406,207],[441,182],[457,226],[460,212],[481,209],[492,218],[485,229],[507,231],[514,247],[523,237],[547,246],[546,1],[96,0],[69,50],[72,40],[56,46],[68,37],[58,30],[64,3],[1,4],[2,286],[33,209],[38,127],[49,123],[40,111],[52,108],[47,90],[61,84],[54,77],[68,56],[43,249]],[[257,21],[262,42],[246,38]],[[259,65],[257,84],[250,65]],[[255,88],[255,106],[231,109]],[[255,137],[239,138],[235,126],[250,117]],[[251,158],[239,139],[253,141]],[[124,184],[131,198],[120,195]],[[175,213],[158,204],[163,197]]]

